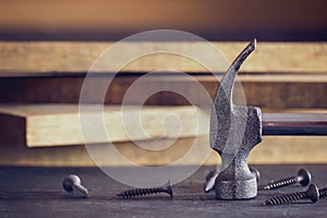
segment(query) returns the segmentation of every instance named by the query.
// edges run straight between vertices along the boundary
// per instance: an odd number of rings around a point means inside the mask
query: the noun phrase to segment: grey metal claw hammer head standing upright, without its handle
[[[215,182],[219,199],[247,199],[257,194],[256,178],[249,169],[247,156],[262,142],[262,112],[256,107],[232,104],[239,69],[255,47],[253,40],[233,61],[220,82],[211,108],[210,147],[220,155],[222,164]]]

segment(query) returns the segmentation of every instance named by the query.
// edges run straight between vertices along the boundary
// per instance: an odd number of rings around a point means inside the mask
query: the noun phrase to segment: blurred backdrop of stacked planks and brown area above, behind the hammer
[[[240,73],[246,102],[261,107],[264,112],[326,112],[326,5],[324,0],[2,0],[0,165],[93,166],[78,129],[77,104],[83,80],[93,61],[112,43],[143,31],[167,28],[196,34],[219,48],[228,61],[232,61],[247,41],[257,38],[258,50]],[[162,40],[165,38],[126,45],[119,56],[143,49],[142,46],[154,49],[173,46],[194,52],[197,49],[187,41],[162,45]],[[121,104],[135,80],[170,63],[203,84],[211,97],[219,85],[209,72],[191,61],[171,57],[140,61],[123,69],[109,87],[110,95],[105,99],[108,119],[119,118],[114,106]],[[218,73],[222,75],[226,70],[219,69]],[[95,87],[112,76],[110,70],[106,70],[106,75],[102,73],[93,78]],[[162,72],[161,77],[155,77],[145,86],[182,84],[196,96],[192,84],[177,80],[178,76],[181,75]],[[92,107],[99,100],[89,94],[86,104]],[[155,94],[146,105],[153,108],[145,112],[145,124],[169,110],[185,114],[185,125],[192,124],[186,122],[192,117],[190,102],[177,94]],[[204,116],[208,119],[208,114]],[[154,136],[161,132],[158,130]],[[191,130],[169,149],[152,152],[117,134],[114,147],[126,158],[146,166],[177,160],[190,150],[197,136]],[[208,147],[208,137],[201,137],[203,146]],[[98,138],[93,143],[99,153],[101,146],[106,146]],[[165,140],[146,143],[160,147]],[[201,150],[198,153],[185,164],[201,162],[203,157]],[[106,154],[105,159],[108,166],[123,165],[111,154]],[[213,154],[207,164],[215,165],[218,159]],[[250,162],[327,162],[326,137],[267,136],[251,154]]]

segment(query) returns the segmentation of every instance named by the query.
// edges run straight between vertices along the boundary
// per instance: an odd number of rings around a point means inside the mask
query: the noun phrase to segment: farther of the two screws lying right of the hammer
[[[300,169],[296,177],[290,177],[278,181],[272,181],[264,186],[259,186],[259,190],[276,190],[278,187],[287,186],[294,183],[300,183],[302,186],[306,186],[311,183],[311,173],[306,169]]]

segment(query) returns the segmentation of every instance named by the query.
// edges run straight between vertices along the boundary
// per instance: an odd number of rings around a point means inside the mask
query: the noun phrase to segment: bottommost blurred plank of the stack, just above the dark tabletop
[[[198,137],[202,146],[197,153],[192,155],[184,165],[203,164],[205,149],[209,148],[207,136]],[[264,136],[250,154],[250,164],[327,164],[326,136]],[[117,156],[119,154],[126,159],[141,166],[170,165],[182,158],[192,147],[194,137],[179,138],[168,149],[149,150],[136,146],[131,142],[114,143],[114,146],[107,144],[95,144],[98,157],[102,166],[126,166],[125,161]],[[152,140],[143,142],[145,146],[158,148],[167,147],[167,140]],[[307,150],[311,155],[307,155]],[[206,165],[220,164],[219,156],[211,150]],[[3,143],[0,146],[1,166],[95,166],[85,146],[55,146],[55,147],[26,147],[23,144],[14,144],[14,141]]]

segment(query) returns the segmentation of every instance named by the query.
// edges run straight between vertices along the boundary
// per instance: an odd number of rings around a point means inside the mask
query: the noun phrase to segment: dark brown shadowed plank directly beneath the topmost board
[[[98,95],[100,87],[108,83],[108,77],[98,76],[89,78],[94,84],[92,90],[87,90],[85,101],[101,104]],[[121,76],[112,80],[105,97],[105,104],[121,104],[129,87],[140,75]],[[207,93],[214,97],[219,82],[213,76],[193,75]],[[220,77],[219,77],[220,78]],[[291,75],[242,75],[242,82],[247,105],[259,106],[263,109],[287,108],[327,108],[326,75],[311,76],[303,74]],[[83,76],[56,76],[56,77],[0,77],[0,102],[5,104],[77,104]],[[137,89],[137,95],[147,93],[149,87],[171,88],[183,87],[194,101],[199,102],[203,95],[195,90],[195,83],[184,76],[153,76],[145,80],[144,85]],[[142,84],[143,84],[142,83]],[[235,87],[234,101],[240,99],[240,88]],[[137,98],[135,98],[135,102]],[[146,105],[190,105],[179,95],[161,92],[150,96]]]

